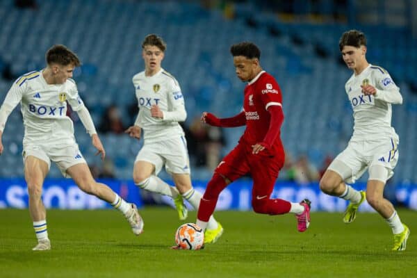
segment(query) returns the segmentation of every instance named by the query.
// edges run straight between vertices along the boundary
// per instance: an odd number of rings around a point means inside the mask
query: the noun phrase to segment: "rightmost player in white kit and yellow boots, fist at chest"
[[[386,181],[393,176],[398,161],[399,138],[391,126],[391,104],[402,104],[400,89],[386,70],[366,60],[363,33],[343,33],[339,48],[347,67],[353,70],[345,90],[353,108],[354,131],[347,148],[327,168],[320,189],[350,201],[343,215],[345,223],[353,222],[359,205],[366,199],[391,227],[392,250],[405,250],[410,230],[383,196]],[[366,170],[366,193],[345,184],[354,183]]]

